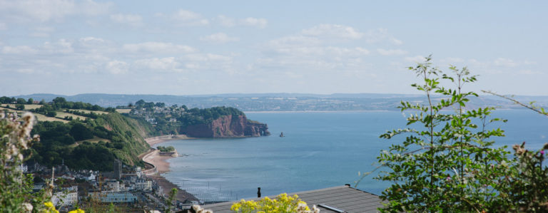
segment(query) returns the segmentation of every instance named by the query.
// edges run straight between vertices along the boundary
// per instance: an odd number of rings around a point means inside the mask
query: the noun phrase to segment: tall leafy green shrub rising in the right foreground
[[[511,160],[505,147],[492,147],[491,137],[504,136],[487,129],[494,108],[467,110],[469,96],[463,85],[473,83],[467,68],[450,67],[452,75],[432,68],[431,58],[410,70],[423,82],[412,87],[425,93],[427,103],[402,102],[402,112],[412,111],[408,128],[388,131],[380,137],[402,136],[401,144],[381,152],[378,161],[387,170],[376,177],[393,184],[380,196],[387,200],[383,212],[481,212],[498,209]],[[445,88],[441,83],[455,88]],[[442,98],[435,102],[432,95]],[[455,110],[444,113],[443,110]],[[502,120],[504,121],[504,120]]]

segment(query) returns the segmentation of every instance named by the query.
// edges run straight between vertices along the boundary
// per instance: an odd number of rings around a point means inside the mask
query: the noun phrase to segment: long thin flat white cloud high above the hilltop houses
[[[195,48],[186,45],[178,45],[173,43],[163,42],[144,42],[144,43],[129,43],[124,44],[123,49],[126,51],[145,51],[151,53],[192,53]]]

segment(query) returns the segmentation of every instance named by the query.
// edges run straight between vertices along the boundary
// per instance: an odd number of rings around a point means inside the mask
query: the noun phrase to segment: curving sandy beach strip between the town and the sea
[[[153,145],[156,145],[158,143],[167,142],[169,140],[188,140],[193,139],[192,137],[186,137],[186,135],[163,135],[163,136],[156,136],[156,137],[148,137],[145,138],[145,141],[150,145],[151,147]],[[160,155],[157,150],[149,150],[148,152],[145,152],[141,154],[141,160],[144,162],[153,165],[156,167],[156,172],[151,175],[146,175],[148,177],[151,177],[153,180],[156,180],[159,186],[162,187],[163,193],[168,196],[169,192],[171,192],[171,189],[176,188],[178,189],[176,199],[180,202],[184,202],[185,200],[190,201],[198,201],[198,198],[194,197],[193,194],[186,192],[185,190],[178,187],[173,182],[169,182],[165,177],[163,177],[161,174],[169,172],[169,162],[167,162],[168,159],[173,158],[173,156],[169,155]]]

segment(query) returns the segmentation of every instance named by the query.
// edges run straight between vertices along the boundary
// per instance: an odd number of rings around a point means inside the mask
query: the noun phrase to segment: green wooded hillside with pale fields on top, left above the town
[[[26,153],[29,162],[103,171],[112,169],[115,158],[126,165],[142,164],[137,156],[149,148],[144,137],[153,135],[150,124],[127,118],[113,108],[54,100],[25,104],[23,109],[11,100],[0,105],[6,111],[36,115],[39,122],[32,134],[40,135],[41,140]]]

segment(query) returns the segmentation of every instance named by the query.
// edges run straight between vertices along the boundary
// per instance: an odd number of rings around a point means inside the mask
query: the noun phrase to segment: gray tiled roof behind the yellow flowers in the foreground
[[[295,192],[288,195],[298,194],[299,198],[306,202],[309,207],[318,204],[334,207],[344,212],[378,212],[377,208],[382,207],[382,200],[375,194],[364,192],[348,186],[330,187],[305,192]],[[271,196],[269,196],[271,197]],[[275,197],[275,196],[272,196]],[[255,198],[253,200],[257,200]],[[205,205],[204,209],[211,209],[215,213],[228,213],[233,202],[222,202],[218,204]],[[318,206],[320,212],[337,212],[328,207]]]

